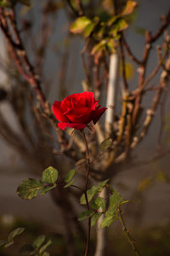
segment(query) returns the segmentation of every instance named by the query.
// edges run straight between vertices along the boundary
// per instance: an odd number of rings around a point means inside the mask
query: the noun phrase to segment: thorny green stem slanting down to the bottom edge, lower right
[[[119,221],[121,222],[122,224],[122,231],[124,233],[124,235],[127,237],[127,241],[130,243],[131,247],[133,248],[133,252],[137,255],[137,256],[141,256],[141,254],[139,253],[139,250],[138,248],[136,247],[136,241],[133,240],[132,236],[130,236],[129,234],[129,230],[127,230],[127,227],[125,225],[125,222],[124,222],[124,219],[122,217],[122,210],[121,208],[119,207],[118,209],[118,212],[119,212]]]

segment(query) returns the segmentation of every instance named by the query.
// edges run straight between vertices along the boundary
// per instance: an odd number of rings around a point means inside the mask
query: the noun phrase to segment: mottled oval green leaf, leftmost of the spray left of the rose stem
[[[42,189],[43,184],[39,179],[28,178],[18,187],[16,193],[26,200],[30,200],[37,196],[38,191]]]

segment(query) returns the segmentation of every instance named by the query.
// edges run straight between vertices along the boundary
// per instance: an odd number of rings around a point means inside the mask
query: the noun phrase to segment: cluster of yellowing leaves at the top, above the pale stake
[[[81,33],[84,38],[94,38],[92,55],[104,50],[111,53],[116,52],[116,40],[121,37],[121,32],[128,27],[127,16],[133,13],[137,3],[127,1],[124,9],[119,15],[108,15],[103,20],[101,16],[94,16],[90,19],[87,16],[78,17],[72,24],[72,33]]]

